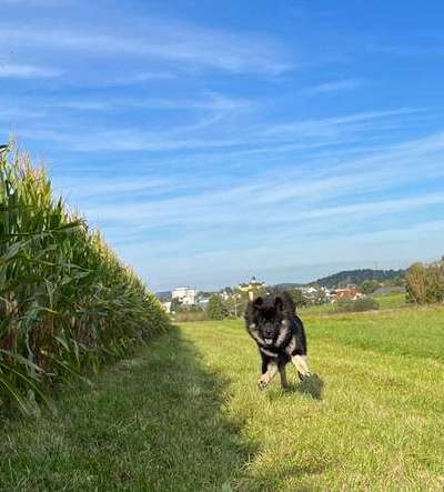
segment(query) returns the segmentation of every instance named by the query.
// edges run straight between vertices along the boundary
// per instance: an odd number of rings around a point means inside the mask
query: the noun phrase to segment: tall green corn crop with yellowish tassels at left
[[[99,232],[54,199],[44,169],[0,153],[0,412],[95,371],[168,318]]]

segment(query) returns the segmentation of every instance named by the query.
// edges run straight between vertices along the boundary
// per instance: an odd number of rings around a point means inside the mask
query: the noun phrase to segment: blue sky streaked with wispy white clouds
[[[152,289],[444,253],[441,1],[0,4],[0,134]]]

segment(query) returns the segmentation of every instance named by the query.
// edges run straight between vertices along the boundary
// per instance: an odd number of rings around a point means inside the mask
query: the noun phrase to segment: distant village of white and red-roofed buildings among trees
[[[238,317],[243,312],[244,304],[246,304],[249,299],[282,290],[286,290],[292,295],[297,307],[356,301],[370,293],[377,295],[405,291],[403,285],[386,285],[384,282],[374,280],[364,281],[361,285],[346,283],[335,288],[327,288],[319,284],[268,285],[264,281],[252,277],[248,282],[239,283],[236,287],[225,287],[215,292],[198,291],[192,287],[178,287],[171,292],[159,293],[158,297],[168,313],[174,313],[178,310],[206,310],[211,299],[216,298],[229,307],[228,309],[231,307],[232,314]]]

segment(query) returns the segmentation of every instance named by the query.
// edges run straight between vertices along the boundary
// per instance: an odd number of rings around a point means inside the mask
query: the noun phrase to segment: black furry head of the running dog
[[[289,310],[292,309],[292,301],[286,295],[259,297],[250,301],[246,308],[248,328],[255,330],[266,345],[272,345],[287,319]]]

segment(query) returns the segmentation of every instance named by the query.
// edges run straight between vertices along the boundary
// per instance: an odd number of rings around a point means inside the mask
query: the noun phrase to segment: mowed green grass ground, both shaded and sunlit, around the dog
[[[3,425],[0,490],[444,490],[444,309],[304,321],[321,399],[256,390],[241,322],[184,323]]]

